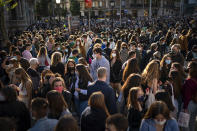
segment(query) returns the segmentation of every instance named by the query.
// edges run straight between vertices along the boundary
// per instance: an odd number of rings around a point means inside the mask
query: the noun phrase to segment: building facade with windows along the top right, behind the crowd
[[[81,5],[81,14],[88,10],[85,8],[84,0],[79,0]],[[110,6],[111,0],[92,0],[91,16],[107,17],[113,15],[130,17],[144,17],[149,15],[151,4],[152,16],[173,16],[180,12],[179,0],[114,0],[115,6]],[[112,11],[113,10],[113,11]]]

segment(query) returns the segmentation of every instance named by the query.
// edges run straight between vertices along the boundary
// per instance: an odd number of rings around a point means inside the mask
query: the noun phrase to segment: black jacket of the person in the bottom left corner
[[[0,117],[13,118],[17,131],[27,131],[31,127],[31,117],[25,104],[20,101],[0,102]]]

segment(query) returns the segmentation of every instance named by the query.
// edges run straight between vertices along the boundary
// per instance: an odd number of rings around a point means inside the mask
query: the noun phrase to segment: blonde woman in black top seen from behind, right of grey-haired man
[[[50,70],[54,74],[59,73],[62,77],[64,77],[65,67],[62,63],[62,54],[60,52],[54,52],[52,54]]]

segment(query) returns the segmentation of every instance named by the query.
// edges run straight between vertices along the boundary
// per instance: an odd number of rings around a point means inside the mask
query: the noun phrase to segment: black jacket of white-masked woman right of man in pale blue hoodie
[[[122,79],[121,77],[122,62],[116,60],[116,62],[111,66],[110,63],[110,82],[119,83]]]

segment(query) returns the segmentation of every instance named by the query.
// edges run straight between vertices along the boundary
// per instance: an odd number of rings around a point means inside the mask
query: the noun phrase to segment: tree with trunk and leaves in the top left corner
[[[16,0],[0,0],[0,32],[2,33],[2,41],[3,44],[0,45],[1,47],[6,46],[6,43],[8,43],[8,33],[5,27],[5,15],[4,11],[5,9],[7,11],[14,9],[18,5]]]

